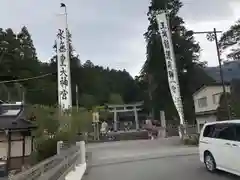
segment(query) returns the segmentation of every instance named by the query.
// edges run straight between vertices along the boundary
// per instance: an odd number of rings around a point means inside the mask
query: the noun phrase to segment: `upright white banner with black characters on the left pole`
[[[58,16],[57,64],[58,64],[58,103],[62,110],[72,108],[71,73],[69,59],[69,42],[66,15]]]

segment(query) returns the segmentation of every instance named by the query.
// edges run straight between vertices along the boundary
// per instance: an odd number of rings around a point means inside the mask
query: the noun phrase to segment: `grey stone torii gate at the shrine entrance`
[[[138,111],[141,111],[142,108],[140,106],[143,105],[143,102],[137,102],[137,103],[132,103],[132,104],[123,104],[123,105],[114,105],[114,104],[108,104],[108,109],[109,112],[113,112],[114,115],[114,126],[113,129],[114,131],[117,131],[117,113],[121,112],[134,112],[134,119],[136,123],[136,130],[139,130],[139,121],[138,121]]]

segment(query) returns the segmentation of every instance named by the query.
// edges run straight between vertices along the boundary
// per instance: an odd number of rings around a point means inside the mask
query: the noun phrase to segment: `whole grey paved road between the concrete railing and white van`
[[[179,138],[92,144],[88,151],[92,166],[84,180],[239,179],[207,172],[197,147],[183,146]]]

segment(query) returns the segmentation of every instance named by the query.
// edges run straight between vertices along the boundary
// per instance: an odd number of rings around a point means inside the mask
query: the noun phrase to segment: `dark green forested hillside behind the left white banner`
[[[29,104],[55,105],[57,103],[56,56],[47,60],[47,63],[41,62],[27,27],[23,27],[18,34],[11,28],[0,29],[0,48],[1,81],[40,76],[22,82],[1,83],[0,99],[20,101],[24,98]],[[128,103],[141,99],[138,85],[127,71],[103,68],[94,65],[90,60],[82,63],[79,56],[74,56],[73,52],[71,48],[74,105],[76,105],[76,86],[79,91],[79,103],[84,107],[91,108],[107,102]]]

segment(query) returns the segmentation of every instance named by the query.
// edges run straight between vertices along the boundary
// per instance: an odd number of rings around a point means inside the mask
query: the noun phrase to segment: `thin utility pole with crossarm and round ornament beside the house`
[[[200,31],[200,32],[193,31],[193,34],[206,34],[207,40],[209,40],[211,42],[215,41],[216,50],[217,50],[217,58],[218,58],[218,63],[219,63],[221,84],[222,84],[222,88],[223,88],[223,95],[224,95],[224,99],[225,99],[225,105],[227,107],[228,119],[230,120],[231,112],[230,112],[230,108],[229,108],[228,97],[227,97],[227,93],[226,93],[224,76],[223,76],[223,71],[222,71],[222,60],[221,60],[220,49],[219,49],[219,45],[218,45],[218,37],[217,37],[218,33],[222,33],[222,31],[217,31],[216,28],[214,28],[213,31]]]

